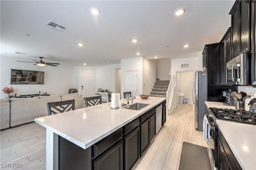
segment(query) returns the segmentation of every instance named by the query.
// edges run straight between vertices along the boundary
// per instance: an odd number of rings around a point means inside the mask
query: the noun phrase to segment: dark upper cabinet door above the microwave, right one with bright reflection
[[[241,1],[240,9],[240,54],[250,51],[250,3]]]

